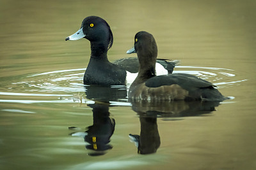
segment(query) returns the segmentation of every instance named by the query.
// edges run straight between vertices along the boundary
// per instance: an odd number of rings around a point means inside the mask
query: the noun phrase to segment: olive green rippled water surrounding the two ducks
[[[0,4],[0,169],[256,168],[256,1]],[[177,73],[216,83],[234,99],[140,106],[127,102],[125,87],[84,94],[90,43],[65,38],[90,15],[111,26],[109,60],[134,57],[125,54],[134,35],[148,31],[159,58],[181,60]],[[90,100],[106,96],[110,105]],[[137,153],[129,134],[140,135],[148,154]]]

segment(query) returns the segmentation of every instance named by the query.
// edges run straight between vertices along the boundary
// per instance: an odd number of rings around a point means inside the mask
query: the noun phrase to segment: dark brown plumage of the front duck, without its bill
[[[209,81],[190,74],[156,76],[157,45],[152,34],[141,31],[135,36],[134,48],[140,61],[137,78],[132,83],[128,97],[132,101],[227,99]]]

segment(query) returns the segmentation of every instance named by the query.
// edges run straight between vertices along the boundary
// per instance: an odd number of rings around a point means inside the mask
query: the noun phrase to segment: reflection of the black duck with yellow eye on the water
[[[92,108],[93,125],[86,127],[85,132],[73,132],[71,135],[84,138],[86,150],[89,150],[88,155],[104,155],[113,148],[109,142],[115,131],[115,119],[109,117],[109,101],[125,99],[127,91],[122,86],[86,86],[85,94],[87,99],[94,101],[94,104],[87,104]],[[69,129],[75,130],[76,127]]]

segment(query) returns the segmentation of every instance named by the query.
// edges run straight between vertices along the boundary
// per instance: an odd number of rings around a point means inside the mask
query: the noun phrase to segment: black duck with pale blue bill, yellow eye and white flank
[[[90,62],[84,73],[84,84],[126,85],[126,83],[132,83],[136,75],[130,73],[138,72],[138,60],[126,58],[113,63],[109,62],[107,54],[113,45],[113,34],[104,19],[97,16],[84,18],[81,28],[65,40],[81,38],[88,39],[91,45]],[[161,62],[163,67],[166,67],[166,74],[172,73],[173,67],[177,64],[177,62],[170,61]],[[127,79],[127,76],[134,76],[134,78]]]

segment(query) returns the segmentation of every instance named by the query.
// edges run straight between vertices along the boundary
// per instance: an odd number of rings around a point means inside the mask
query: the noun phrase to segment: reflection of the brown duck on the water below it
[[[140,117],[141,131],[140,135],[129,134],[130,141],[135,144],[140,154],[156,153],[161,144],[157,118],[180,120],[176,118],[200,116],[212,113],[219,105],[220,102],[216,101],[134,102],[132,110],[136,111]]]

